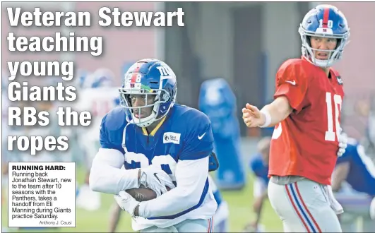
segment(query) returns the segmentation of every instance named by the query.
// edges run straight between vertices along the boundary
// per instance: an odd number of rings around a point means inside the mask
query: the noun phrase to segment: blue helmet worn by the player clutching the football
[[[147,127],[165,117],[173,107],[177,95],[176,75],[167,64],[157,59],[142,59],[133,64],[124,75],[119,88],[120,105],[129,112],[128,121],[140,127]],[[145,95],[145,105],[133,107],[130,95]],[[152,104],[147,100],[154,97]],[[136,117],[134,109],[153,107],[148,117]]]

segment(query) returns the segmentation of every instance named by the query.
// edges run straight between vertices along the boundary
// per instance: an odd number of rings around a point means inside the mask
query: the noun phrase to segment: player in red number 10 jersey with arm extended
[[[268,197],[285,232],[342,232],[331,174],[345,152],[340,135],[343,82],[331,68],[349,39],[343,13],[319,5],[299,27],[302,58],[288,59],[276,74],[275,100],[242,109],[248,127],[275,126],[270,145]]]

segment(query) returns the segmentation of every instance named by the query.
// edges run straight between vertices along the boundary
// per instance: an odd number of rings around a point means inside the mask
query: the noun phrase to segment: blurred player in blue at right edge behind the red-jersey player
[[[353,138],[348,139],[345,153],[338,157],[332,189],[344,208],[340,215],[343,232],[374,232],[375,221],[371,220],[369,207],[375,197],[375,166]],[[356,229],[359,218],[362,229]]]

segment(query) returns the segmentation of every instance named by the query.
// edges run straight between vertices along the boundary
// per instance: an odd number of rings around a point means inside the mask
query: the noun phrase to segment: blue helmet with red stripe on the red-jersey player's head
[[[345,45],[349,42],[350,28],[343,13],[335,6],[319,5],[311,9],[299,25],[302,40],[302,56],[319,67],[332,66],[343,56]],[[328,37],[337,40],[333,50],[311,48],[310,37]],[[316,52],[328,52],[328,59],[316,59]]]

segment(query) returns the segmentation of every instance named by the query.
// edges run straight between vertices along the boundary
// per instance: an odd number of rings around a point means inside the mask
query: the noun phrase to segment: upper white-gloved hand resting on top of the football
[[[138,184],[142,184],[148,189],[155,191],[157,196],[167,192],[167,187],[174,189],[172,179],[165,173],[160,166],[150,165],[141,169],[141,177]]]

